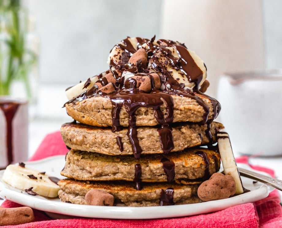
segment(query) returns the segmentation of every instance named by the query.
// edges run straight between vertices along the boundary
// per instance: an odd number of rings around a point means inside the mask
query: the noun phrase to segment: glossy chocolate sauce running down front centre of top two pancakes
[[[132,82],[131,82],[132,81]],[[134,84],[134,79],[129,80],[128,83]],[[133,85],[128,85],[132,86]],[[152,94],[154,94],[154,99],[152,99]],[[151,107],[154,110],[154,115],[161,127],[158,129],[160,135],[160,141],[164,153],[169,153],[173,148],[173,139],[172,139],[172,128],[169,127],[169,124],[173,121],[173,99],[172,97],[162,91],[153,89],[151,94],[147,94],[138,89],[123,90],[118,93],[105,95],[111,99],[113,108],[112,108],[112,131],[120,131],[122,128],[120,126],[119,114],[120,109],[124,105],[125,110],[128,113],[128,138],[131,143],[132,151],[135,158],[139,159],[142,149],[139,145],[139,140],[137,137],[137,127],[136,127],[136,118],[135,111],[139,107]],[[161,111],[161,105],[163,100],[167,106],[167,115],[164,116]]]

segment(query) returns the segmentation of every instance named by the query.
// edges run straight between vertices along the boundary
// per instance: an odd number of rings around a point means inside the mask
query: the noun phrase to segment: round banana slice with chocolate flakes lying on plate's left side
[[[32,191],[38,195],[52,198],[58,196],[60,189],[59,185],[52,182],[48,175],[42,174],[36,169],[21,167],[16,164],[7,166],[2,180],[20,190],[32,187]]]

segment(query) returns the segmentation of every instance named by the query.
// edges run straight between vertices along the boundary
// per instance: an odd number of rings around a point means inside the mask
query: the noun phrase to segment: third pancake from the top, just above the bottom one
[[[70,150],[61,175],[75,180],[133,181],[138,172],[135,172],[136,164],[139,164],[139,179],[142,182],[190,179],[190,182],[200,183],[196,179],[201,178],[204,181],[218,172],[220,155],[212,150],[193,148],[167,155],[150,154],[136,160],[133,156],[110,156]]]

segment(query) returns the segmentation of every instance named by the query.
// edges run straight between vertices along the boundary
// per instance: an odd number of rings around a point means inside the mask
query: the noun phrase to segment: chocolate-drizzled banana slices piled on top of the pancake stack
[[[196,84],[198,88],[200,88],[207,78],[207,69],[205,64],[195,52],[187,49],[185,46],[183,46],[183,44],[177,41],[164,39],[154,40],[154,37],[151,40],[140,37],[127,37],[116,44],[112,48],[107,62],[109,64],[110,71],[117,70],[116,68],[122,63],[123,57],[126,58],[127,56],[129,59],[129,57],[140,48],[143,48],[146,52],[150,52],[152,55],[149,57],[148,69],[146,70],[166,77],[167,75],[163,74],[162,71],[155,69],[154,61],[157,59],[161,64],[159,67],[161,67],[162,70],[165,69],[166,72],[170,72],[170,77],[177,81],[181,85],[182,89],[193,90]],[[168,56],[168,53],[171,54],[171,58]],[[181,60],[182,63],[185,62],[185,64],[182,65],[189,66],[187,68],[188,70],[185,70],[184,68],[180,69],[178,66],[172,64],[172,62],[175,62],[176,60]],[[124,70],[124,72],[125,71],[126,70]],[[106,75],[105,72],[101,73],[100,75],[95,75],[90,79],[67,89],[67,99],[71,100],[82,94],[84,91],[90,89],[98,79]],[[87,87],[85,85],[87,85]],[[169,88],[169,86],[170,85],[167,87]],[[161,88],[164,89],[165,86]]]

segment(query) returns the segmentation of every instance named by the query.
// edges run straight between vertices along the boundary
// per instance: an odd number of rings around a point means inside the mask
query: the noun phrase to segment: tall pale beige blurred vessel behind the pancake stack
[[[264,68],[261,1],[166,0],[162,15],[161,38],[185,42],[206,64],[206,94],[226,71]]]

